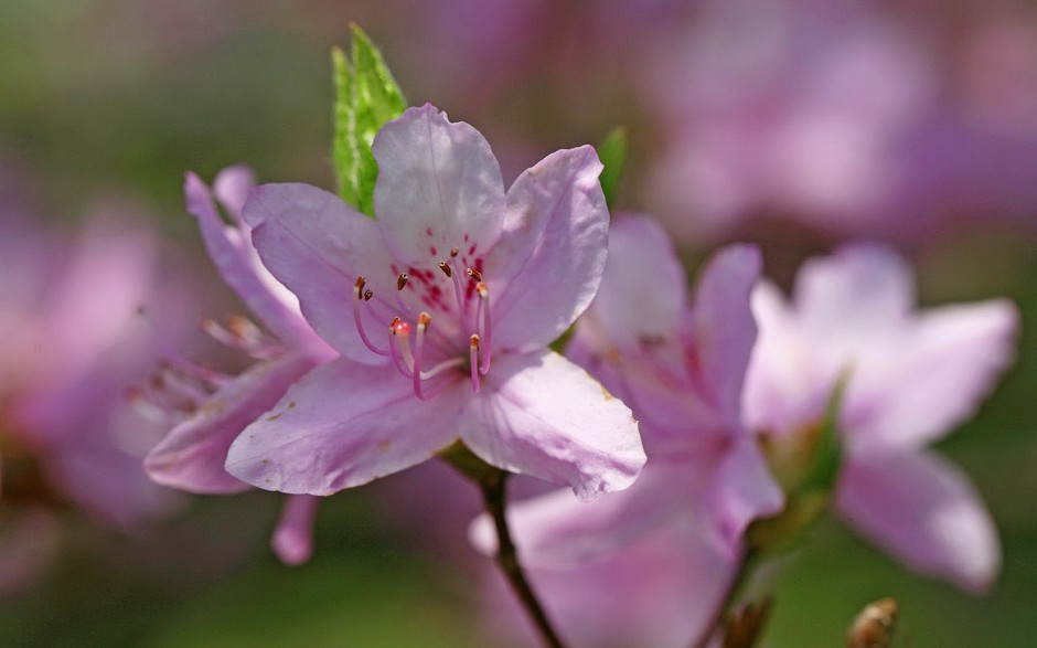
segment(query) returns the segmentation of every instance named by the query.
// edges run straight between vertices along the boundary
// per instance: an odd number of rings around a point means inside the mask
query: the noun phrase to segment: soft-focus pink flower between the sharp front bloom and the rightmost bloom
[[[571,631],[590,633],[594,610],[598,642],[656,633],[645,645],[687,645],[734,576],[746,527],[781,510],[782,492],[741,423],[756,340],[749,294],[759,273],[757,249],[727,247],[703,270],[688,308],[684,269],[660,226],[643,217],[613,223],[601,289],[568,353],[631,405],[648,465],[624,492],[590,504],[548,495],[510,516],[524,563],[563,628],[568,622]],[[485,518],[473,540],[495,546]],[[634,612],[655,599],[635,595],[651,589],[646,580],[663,563],[674,572],[661,592],[675,598],[638,623]],[[599,605],[581,609],[588,597]],[[648,619],[655,627],[641,625]]]

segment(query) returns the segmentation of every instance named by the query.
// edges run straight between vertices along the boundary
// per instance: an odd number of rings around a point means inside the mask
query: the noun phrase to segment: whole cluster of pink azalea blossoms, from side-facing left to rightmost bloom
[[[926,446],[1011,363],[1009,302],[918,310],[877,244],[809,262],[791,298],[759,249],[729,246],[689,291],[655,221],[610,216],[590,147],[505,190],[479,131],[426,105],[371,151],[374,217],[242,168],[212,191],[189,174],[210,255],[263,328],[206,325],[254,364],[182,369],[194,403],[152,479],[289,493],[275,548],[291,563],[320,497],[436,457],[566,486],[511,506],[513,539],[490,514],[471,537],[517,548],[578,645],[705,645],[750,559],[828,508],[915,570],[990,585],[990,516]]]

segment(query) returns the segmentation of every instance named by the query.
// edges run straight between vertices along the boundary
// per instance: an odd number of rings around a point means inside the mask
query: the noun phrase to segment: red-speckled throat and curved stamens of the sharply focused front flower
[[[474,245],[469,253],[474,253]],[[479,376],[490,372],[490,289],[482,267],[481,257],[470,261],[457,247],[438,262],[438,273],[414,267],[399,272],[393,265],[397,275],[392,298],[375,296],[367,279],[356,277],[353,322],[360,339],[373,353],[391,358],[421,400],[431,399],[452,382],[456,372],[449,370],[467,368],[474,393],[479,392]],[[368,322],[381,322],[386,331],[384,346],[368,333],[377,330]],[[437,376],[443,378],[430,382]]]

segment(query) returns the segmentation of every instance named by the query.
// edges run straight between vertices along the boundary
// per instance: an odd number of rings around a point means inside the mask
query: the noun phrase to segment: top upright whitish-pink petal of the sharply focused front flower
[[[496,243],[504,181],[478,130],[426,104],[383,126],[372,152],[374,211],[397,259],[435,266],[452,247],[468,252],[475,244],[480,256]]]

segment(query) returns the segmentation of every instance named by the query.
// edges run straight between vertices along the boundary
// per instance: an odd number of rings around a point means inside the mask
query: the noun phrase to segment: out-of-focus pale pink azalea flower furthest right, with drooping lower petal
[[[915,312],[913,299],[904,261],[870,245],[809,262],[791,304],[761,284],[746,418],[776,444],[803,434],[845,373],[838,513],[909,566],[982,589],[998,570],[996,530],[967,478],[926,445],[1011,363],[1017,315],[1005,300]]]

